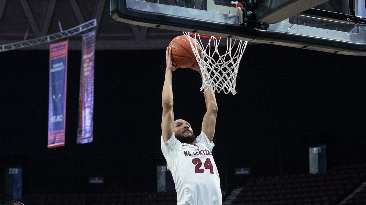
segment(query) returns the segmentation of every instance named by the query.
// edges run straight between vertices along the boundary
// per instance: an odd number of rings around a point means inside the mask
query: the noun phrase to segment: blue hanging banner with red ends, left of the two
[[[48,148],[65,145],[68,40],[49,46]]]

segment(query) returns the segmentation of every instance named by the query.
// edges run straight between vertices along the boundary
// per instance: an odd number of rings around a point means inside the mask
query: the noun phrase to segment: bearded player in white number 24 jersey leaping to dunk
[[[220,178],[212,156],[217,104],[211,92],[205,92],[206,114],[202,132],[195,137],[191,125],[182,119],[174,121],[171,48],[167,48],[167,69],[163,86],[163,120],[161,121],[161,150],[167,160],[177,191],[178,205],[221,205]],[[191,67],[202,73],[198,63]],[[194,113],[193,113],[194,114]]]

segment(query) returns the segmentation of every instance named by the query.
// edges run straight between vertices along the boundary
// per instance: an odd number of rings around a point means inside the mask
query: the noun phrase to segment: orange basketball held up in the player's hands
[[[194,38],[189,37],[191,42],[196,42]],[[197,42],[196,42],[197,43]],[[198,43],[197,46],[199,47]],[[177,36],[169,44],[172,48],[172,63],[178,67],[190,67],[196,63],[196,57],[193,53],[187,36]]]

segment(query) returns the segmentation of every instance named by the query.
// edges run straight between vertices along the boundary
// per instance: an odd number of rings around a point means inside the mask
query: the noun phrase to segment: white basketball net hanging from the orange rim
[[[206,92],[206,90],[211,87],[213,92],[216,90],[217,93],[220,93],[220,91],[223,90],[225,94],[228,94],[229,92],[233,95],[236,94],[236,76],[238,74],[240,59],[243,56],[247,42],[227,38],[226,52],[220,54],[218,46],[223,38],[210,36],[208,38],[208,43],[207,40],[203,40],[203,42],[205,42],[205,45],[203,45],[201,39],[201,36],[203,35],[187,32],[184,32],[184,35],[187,36],[197,58],[198,65],[201,68],[203,78],[201,91],[203,90],[203,92]],[[198,51],[198,46],[196,46],[197,43],[194,43],[193,45],[189,35],[194,36],[194,39],[201,47],[201,53]],[[238,43],[236,44],[236,42]]]

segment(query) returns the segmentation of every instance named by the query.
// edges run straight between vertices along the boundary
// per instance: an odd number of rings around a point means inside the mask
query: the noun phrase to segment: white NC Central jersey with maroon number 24
[[[221,205],[220,177],[212,156],[214,144],[201,132],[194,145],[180,143],[173,132],[168,142],[161,135],[161,150],[177,191],[177,205]]]

